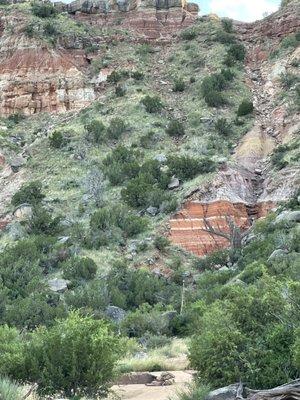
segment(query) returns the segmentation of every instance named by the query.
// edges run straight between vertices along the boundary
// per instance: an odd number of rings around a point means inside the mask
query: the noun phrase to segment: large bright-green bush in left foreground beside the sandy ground
[[[28,379],[43,394],[105,395],[120,353],[120,340],[104,321],[72,312],[31,335]]]

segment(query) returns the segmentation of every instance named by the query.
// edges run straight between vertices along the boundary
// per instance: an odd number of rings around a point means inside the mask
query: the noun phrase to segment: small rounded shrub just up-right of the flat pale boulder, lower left
[[[88,281],[95,278],[96,272],[97,264],[89,257],[73,257],[63,264],[65,279]]]

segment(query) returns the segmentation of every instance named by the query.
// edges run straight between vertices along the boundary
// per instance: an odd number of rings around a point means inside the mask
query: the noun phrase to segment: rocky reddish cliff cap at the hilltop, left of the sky
[[[75,0],[66,10],[75,19],[91,25],[111,26],[116,22],[147,40],[170,40],[179,29],[190,26],[198,16],[197,4],[181,0]]]

